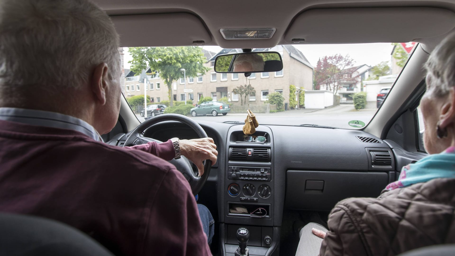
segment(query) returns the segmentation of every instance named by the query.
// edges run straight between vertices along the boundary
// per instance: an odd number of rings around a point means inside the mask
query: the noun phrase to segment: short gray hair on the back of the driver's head
[[[0,93],[77,89],[102,62],[117,80],[118,46],[111,19],[89,0],[1,0]]]

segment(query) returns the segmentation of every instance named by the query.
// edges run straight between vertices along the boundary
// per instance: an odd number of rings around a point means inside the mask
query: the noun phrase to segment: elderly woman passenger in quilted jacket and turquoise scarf
[[[329,230],[304,226],[297,255],[385,256],[455,243],[455,33],[435,48],[425,69],[420,108],[430,155],[404,166],[378,198],[339,202]]]

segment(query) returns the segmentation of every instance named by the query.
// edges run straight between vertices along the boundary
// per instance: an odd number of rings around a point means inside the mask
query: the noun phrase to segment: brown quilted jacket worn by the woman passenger
[[[378,198],[348,198],[329,215],[320,255],[392,256],[455,243],[454,215],[455,179],[432,179]]]

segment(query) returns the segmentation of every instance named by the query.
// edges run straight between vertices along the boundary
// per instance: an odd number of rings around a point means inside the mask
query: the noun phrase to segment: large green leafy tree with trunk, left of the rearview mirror
[[[186,70],[187,77],[197,77],[198,73],[205,74],[210,70],[204,67],[206,58],[198,46],[130,47],[128,51],[132,57],[128,63],[131,63],[133,72],[140,73],[150,67],[166,83],[170,106],[173,106],[172,82],[183,78],[181,68]]]

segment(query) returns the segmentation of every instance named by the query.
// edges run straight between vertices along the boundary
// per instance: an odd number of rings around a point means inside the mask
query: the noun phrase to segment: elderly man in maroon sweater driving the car
[[[120,148],[119,37],[89,0],[0,1],[0,210],[60,220],[116,255],[211,255],[171,141]],[[203,171],[211,138],[180,140]]]

